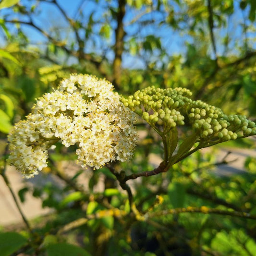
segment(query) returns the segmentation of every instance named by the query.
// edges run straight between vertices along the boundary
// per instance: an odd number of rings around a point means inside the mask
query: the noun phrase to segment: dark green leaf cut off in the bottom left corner
[[[23,245],[27,243],[27,240],[19,233],[16,232],[4,232],[0,233],[0,255],[10,256],[17,251]]]

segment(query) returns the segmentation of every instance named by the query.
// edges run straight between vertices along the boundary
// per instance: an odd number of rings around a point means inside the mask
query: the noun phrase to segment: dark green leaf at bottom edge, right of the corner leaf
[[[91,256],[84,249],[66,243],[49,244],[46,251],[48,256]]]

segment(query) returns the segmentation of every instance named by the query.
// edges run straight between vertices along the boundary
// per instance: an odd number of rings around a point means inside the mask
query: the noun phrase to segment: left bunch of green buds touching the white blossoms
[[[187,96],[191,96],[191,92],[185,88],[161,89],[150,86],[121,101],[149,124],[164,125],[167,128],[164,131],[167,131],[176,125],[184,125],[184,116],[180,110],[192,102]]]

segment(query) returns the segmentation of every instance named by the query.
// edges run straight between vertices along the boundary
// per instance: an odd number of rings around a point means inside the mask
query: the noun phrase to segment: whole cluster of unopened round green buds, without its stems
[[[239,137],[256,135],[256,124],[241,115],[225,115],[221,109],[200,100],[192,100],[185,88],[161,89],[154,86],[136,91],[122,103],[140,115],[159,134],[167,132],[184,120],[192,125],[198,140],[213,145]],[[161,130],[159,126],[163,127]]]

